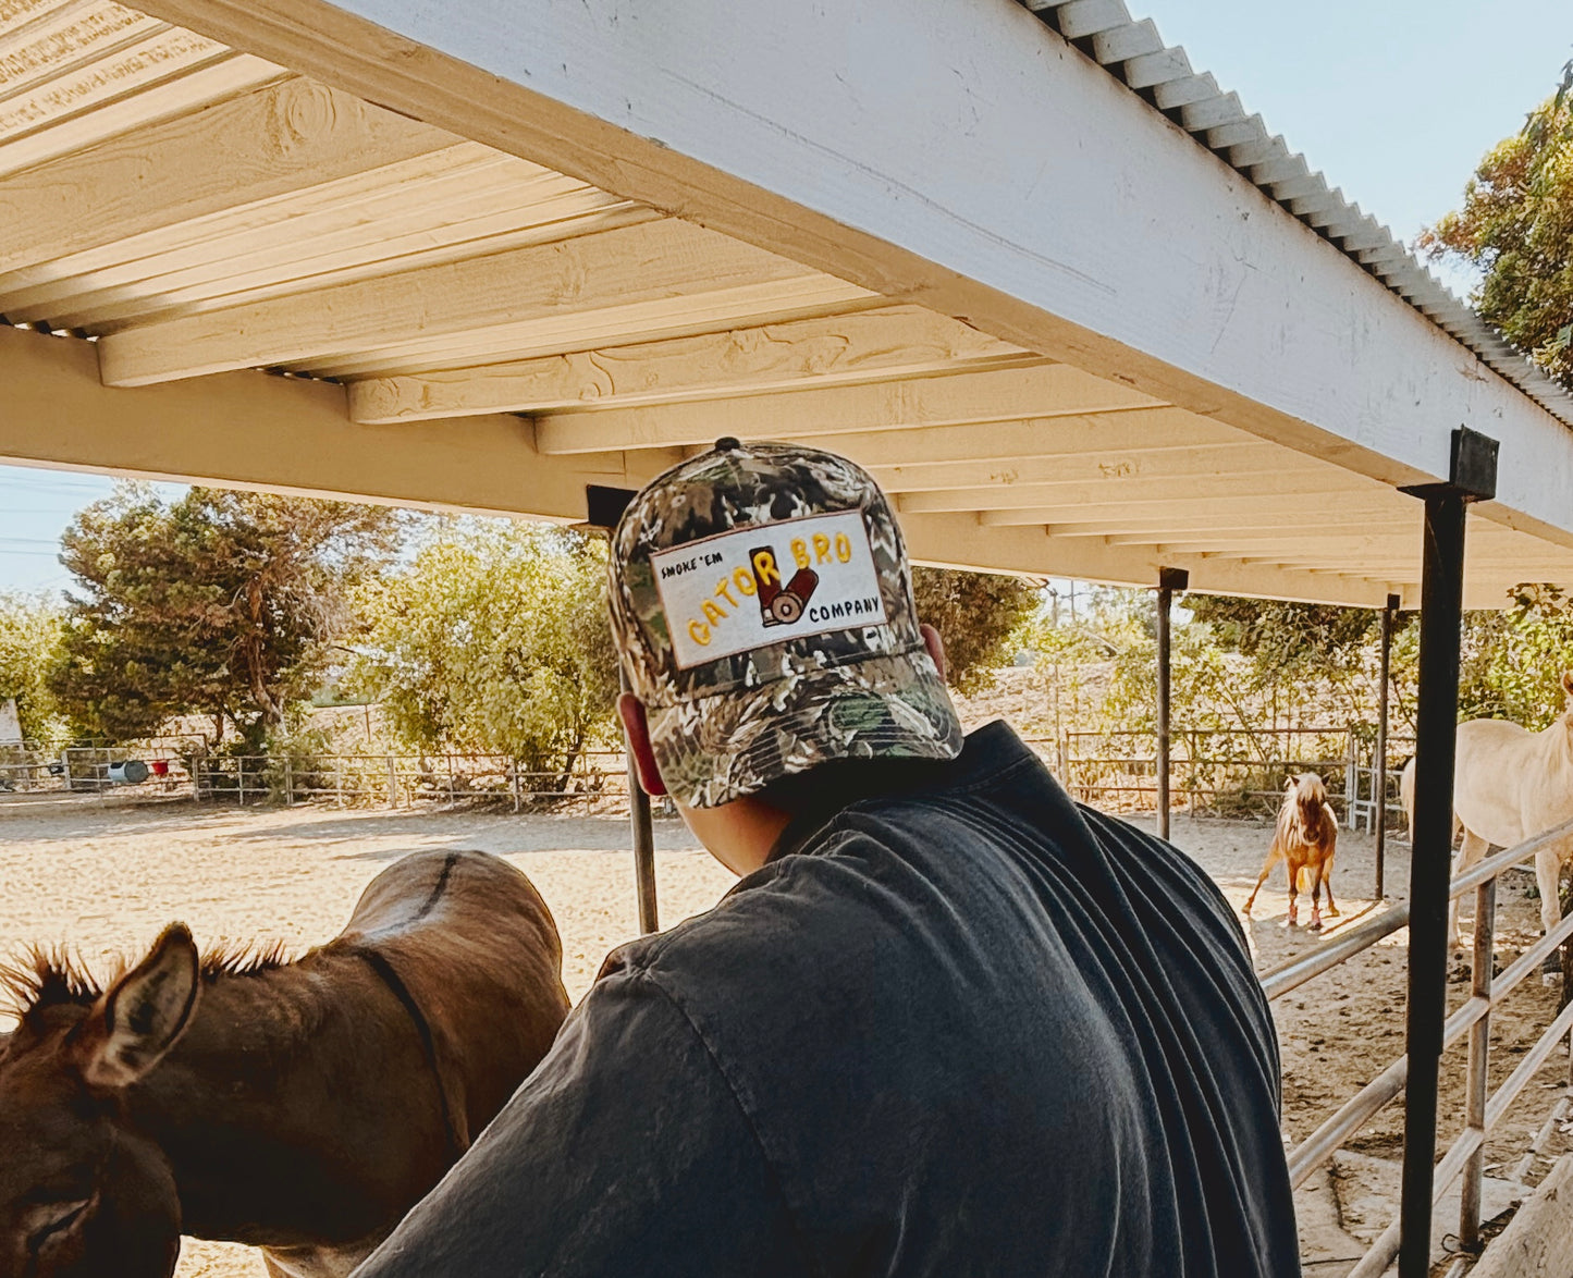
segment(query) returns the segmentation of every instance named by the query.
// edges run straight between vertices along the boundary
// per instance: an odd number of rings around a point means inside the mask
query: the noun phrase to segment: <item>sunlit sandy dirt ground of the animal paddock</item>
[[[1265,826],[1180,818],[1175,842],[1222,886],[1238,908],[1255,881],[1268,844]],[[330,938],[367,881],[385,864],[420,848],[483,848],[522,869],[551,903],[563,935],[565,981],[577,1001],[604,954],[637,933],[634,878],[623,818],[514,817],[477,812],[407,814],[330,807],[249,809],[145,803],[91,796],[0,798],[0,954],[28,943],[68,943],[104,971],[135,952],[171,919],[190,924],[200,944],[220,938],[282,940],[305,949]],[[709,859],[681,823],[656,822],[658,881],[664,924],[709,908],[731,875]],[[1387,883],[1403,891],[1406,848],[1389,850]],[[1538,903],[1527,875],[1509,875],[1501,891],[1499,963],[1512,962],[1538,930]],[[1345,834],[1334,886],[1350,925],[1373,908],[1369,836]],[[1317,938],[1282,927],[1282,870],[1257,900],[1246,932],[1258,970]],[[1301,918],[1307,918],[1309,902]],[[1406,933],[1389,938],[1343,968],[1290,993],[1274,1007],[1284,1056],[1284,1130],[1302,1139],[1351,1092],[1403,1048]],[[1452,1004],[1466,985],[1455,984]],[[1554,1015],[1556,992],[1520,988],[1493,1021],[1493,1086],[1513,1069]],[[0,1028],[6,1021],[0,1020]],[[1463,1053],[1444,1062],[1442,1136],[1461,1119]],[[1504,1166],[1527,1147],[1529,1132],[1565,1081],[1568,1061],[1554,1055],[1507,1117],[1486,1152]],[[1392,1158],[1402,1141],[1402,1105],[1389,1106],[1353,1143],[1365,1162]],[[1554,1155],[1564,1143],[1554,1144]],[[1386,1166],[1383,1163],[1381,1166]],[[1532,1179],[1549,1168],[1542,1163]],[[1348,1269],[1362,1240],[1380,1232],[1353,1198],[1339,1199],[1332,1179],[1302,1195],[1307,1273]],[[1321,1195],[1318,1198],[1318,1195]],[[1348,1193],[1345,1191],[1345,1198]],[[1367,1195],[1369,1198],[1369,1195]],[[179,1278],[261,1278],[247,1248],[187,1240]]]

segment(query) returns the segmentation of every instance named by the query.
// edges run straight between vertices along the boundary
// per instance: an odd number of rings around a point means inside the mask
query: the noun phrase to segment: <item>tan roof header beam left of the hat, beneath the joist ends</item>
[[[363,427],[340,386],[223,373],[105,387],[94,343],[0,326],[0,461],[472,515],[577,521],[585,485],[635,488],[676,453],[547,458],[518,417]]]

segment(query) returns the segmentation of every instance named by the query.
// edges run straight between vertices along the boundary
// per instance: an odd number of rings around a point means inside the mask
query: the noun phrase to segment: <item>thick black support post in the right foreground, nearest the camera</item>
[[[1453,842],[1464,512],[1471,500],[1496,494],[1496,450],[1494,439],[1458,428],[1452,438],[1449,482],[1405,489],[1425,500],[1425,543],[1414,847],[1409,855],[1409,1072],[1405,1083],[1398,1278],[1425,1278],[1431,1259],[1436,1080],[1447,1014],[1447,889]]]

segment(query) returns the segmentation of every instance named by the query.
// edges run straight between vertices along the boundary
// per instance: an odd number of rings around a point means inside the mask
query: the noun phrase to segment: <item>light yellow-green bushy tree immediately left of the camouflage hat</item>
[[[540,526],[445,521],[360,597],[351,681],[420,751],[508,754],[566,773],[610,741],[617,658],[606,545]]]

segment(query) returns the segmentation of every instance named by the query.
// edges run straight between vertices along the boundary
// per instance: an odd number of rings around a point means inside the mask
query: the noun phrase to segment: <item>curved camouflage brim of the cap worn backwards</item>
[[[832,759],[955,759],[961,722],[922,645],[647,707],[667,793],[719,807]]]

